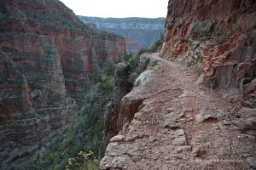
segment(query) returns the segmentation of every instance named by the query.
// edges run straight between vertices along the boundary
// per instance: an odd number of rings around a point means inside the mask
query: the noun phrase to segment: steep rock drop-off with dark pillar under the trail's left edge
[[[105,114],[105,131],[102,152],[105,151],[109,143],[109,139],[122,131],[123,127],[127,127],[133,120],[133,117],[139,110],[139,107],[143,105],[143,100],[145,98],[140,95],[134,95],[130,92],[134,89],[133,86],[137,87],[148,82],[150,79],[150,71],[146,70],[149,67],[154,67],[156,64],[156,59],[149,59],[147,54],[141,55],[137,73],[140,74],[143,71],[145,72],[139,77],[137,77],[137,74],[131,74],[130,65],[124,62],[115,65],[113,101],[107,106]]]

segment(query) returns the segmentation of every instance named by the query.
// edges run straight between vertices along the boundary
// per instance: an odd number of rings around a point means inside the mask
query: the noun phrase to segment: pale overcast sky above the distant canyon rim
[[[166,17],[168,0],[61,0],[75,14],[98,17]]]

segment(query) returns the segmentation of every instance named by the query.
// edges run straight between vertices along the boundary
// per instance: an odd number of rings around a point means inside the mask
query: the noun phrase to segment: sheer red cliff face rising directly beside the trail
[[[255,19],[253,0],[170,0],[161,54],[194,65],[212,87],[244,94],[255,107]]]

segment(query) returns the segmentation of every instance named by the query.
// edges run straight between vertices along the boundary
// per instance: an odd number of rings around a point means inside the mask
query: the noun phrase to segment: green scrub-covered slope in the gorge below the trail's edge
[[[84,105],[73,123],[67,126],[38,160],[39,169],[64,169],[68,159],[80,151],[92,151],[97,157],[104,129],[104,110],[112,98],[113,65],[105,65],[96,76],[90,91],[84,94]]]

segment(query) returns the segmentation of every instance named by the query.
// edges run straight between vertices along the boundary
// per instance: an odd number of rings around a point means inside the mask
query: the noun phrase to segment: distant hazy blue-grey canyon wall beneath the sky
[[[125,37],[127,52],[136,54],[154,44],[164,32],[165,18],[99,18],[79,16],[84,23],[99,30]]]

